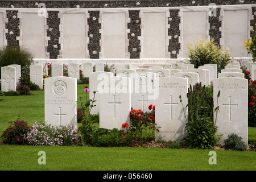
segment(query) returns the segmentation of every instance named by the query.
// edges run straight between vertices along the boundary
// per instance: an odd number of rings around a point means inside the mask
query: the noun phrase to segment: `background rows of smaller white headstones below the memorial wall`
[[[244,63],[245,67],[249,69],[251,73],[251,79],[256,80],[256,64],[251,61],[249,63]],[[10,68],[12,67],[12,68]],[[15,67],[15,68],[13,68]],[[96,63],[96,72],[104,71],[104,63]],[[82,75],[84,77],[89,77],[90,73],[93,72],[93,64],[92,63],[68,63],[68,76],[75,77],[79,79],[80,77],[80,68],[82,70]],[[174,68],[174,69],[172,69]],[[142,69],[118,69],[117,75],[122,73],[122,76],[129,76],[127,74],[131,72],[140,72],[140,71],[148,71],[156,73],[156,77],[164,77],[164,76],[180,76],[187,77],[189,82],[188,84],[194,85],[196,82],[201,82],[202,84],[209,85],[210,81],[217,77],[226,77],[226,76],[235,76],[244,78],[244,74],[242,73],[242,69],[240,69],[240,63],[230,63],[225,66],[225,69],[221,70],[221,73],[217,73],[217,65],[216,64],[205,64],[200,66],[198,69],[193,69],[193,64],[184,64],[181,63],[178,66],[175,65],[164,65],[164,66],[152,66],[148,68]],[[51,77],[55,76],[63,76],[63,64],[54,63],[51,65]],[[202,70],[203,69],[203,70]],[[16,90],[16,84],[18,84],[18,80],[20,77],[20,65],[9,65],[9,67],[2,67],[2,91]],[[182,72],[182,73],[181,73]],[[187,72],[190,72],[187,74]],[[193,72],[193,73],[192,73]],[[254,74],[255,72],[255,74]],[[114,71],[113,71],[114,73]],[[199,80],[197,80],[197,75],[199,74]],[[30,79],[35,84],[39,85],[39,88],[43,89],[43,75],[48,75],[48,70],[46,64],[35,64],[30,65]],[[187,74],[187,75],[186,75]]]

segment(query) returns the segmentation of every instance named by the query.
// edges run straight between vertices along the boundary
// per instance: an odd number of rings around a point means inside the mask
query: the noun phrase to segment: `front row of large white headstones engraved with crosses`
[[[229,68],[227,68],[229,69]],[[187,77],[156,77],[152,72],[133,72],[129,77],[114,76],[110,72],[90,73],[90,98],[96,91],[96,107],[100,113],[100,127],[121,129],[123,122],[130,123],[131,108],[148,111],[155,105],[155,123],[160,126],[156,140],[180,140],[187,135]],[[52,125],[72,123],[77,126],[76,78],[51,77],[45,80],[46,121]],[[221,143],[228,134],[236,133],[247,143],[247,79],[220,77],[213,79],[214,104],[220,112],[216,120],[217,134],[223,134]],[[220,97],[217,102],[217,93]],[[180,103],[179,96],[183,101]],[[214,115],[215,117],[215,115]],[[215,119],[215,118],[214,118]]]

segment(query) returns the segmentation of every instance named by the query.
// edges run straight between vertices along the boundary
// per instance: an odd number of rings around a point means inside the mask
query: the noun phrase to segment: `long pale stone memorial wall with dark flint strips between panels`
[[[246,60],[244,41],[256,23],[250,1],[1,1],[0,7],[0,47],[27,48],[41,63],[176,63],[199,38],[214,38],[230,57]]]

